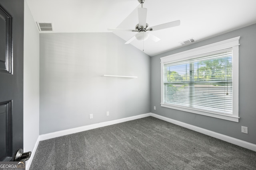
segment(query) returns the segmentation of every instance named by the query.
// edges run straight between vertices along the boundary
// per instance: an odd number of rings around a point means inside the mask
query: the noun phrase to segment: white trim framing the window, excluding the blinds
[[[238,122],[240,118],[238,117],[238,100],[239,100],[238,99],[238,85],[239,85],[238,75],[239,75],[239,45],[240,45],[239,39],[240,39],[240,36],[160,58],[161,59],[161,106]],[[186,59],[196,57],[198,55],[203,55],[205,53],[210,53],[210,52],[214,52],[222,49],[228,49],[228,48],[233,49],[233,57],[232,57],[232,60],[233,60],[232,61],[233,62],[233,85],[232,85],[233,86],[232,87],[233,88],[233,113],[232,115],[212,113],[210,111],[209,112],[200,111],[197,109],[188,109],[186,107],[172,106],[172,105],[163,103],[163,88],[164,88],[163,67],[165,63],[186,60]]]

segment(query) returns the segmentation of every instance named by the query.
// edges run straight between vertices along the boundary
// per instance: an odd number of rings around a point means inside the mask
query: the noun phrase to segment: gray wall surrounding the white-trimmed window
[[[201,47],[237,36],[241,36],[239,41],[239,123],[160,106],[160,57],[194,49],[196,47]],[[256,144],[255,40],[256,24],[151,57],[151,112]],[[154,106],[156,106],[156,110],[154,110]],[[241,126],[248,127],[248,134],[241,133]]]

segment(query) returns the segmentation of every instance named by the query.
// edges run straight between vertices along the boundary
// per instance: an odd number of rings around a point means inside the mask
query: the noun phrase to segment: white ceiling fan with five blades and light
[[[118,29],[118,28],[108,28],[109,31],[132,31],[132,32],[138,32],[136,35],[134,35],[132,38],[130,38],[125,44],[131,43],[134,39],[145,41],[148,38],[151,40],[157,42],[160,40],[160,38],[156,37],[155,35],[149,33],[150,31],[156,31],[159,29],[166,29],[170,27],[176,27],[180,25],[180,20],[172,21],[168,23],[163,23],[160,25],[155,25],[153,27],[149,27],[148,23],[146,23],[147,18],[147,8],[143,8],[143,3],[145,0],[138,0],[138,2],[141,4],[141,8],[138,8],[138,18],[139,23],[135,26],[135,29]]]

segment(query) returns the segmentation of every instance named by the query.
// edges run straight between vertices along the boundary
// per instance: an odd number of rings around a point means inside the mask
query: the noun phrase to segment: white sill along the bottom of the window
[[[172,106],[172,105],[162,104],[162,103],[161,103],[161,107],[167,107],[167,108],[170,108],[170,109],[187,111],[187,112],[190,112],[190,113],[196,113],[196,114],[200,114],[200,115],[205,115],[205,116],[210,116],[210,117],[215,117],[215,118],[218,118],[218,119],[224,119],[224,120],[235,121],[235,122],[238,122],[239,118],[240,118],[240,117],[234,117],[232,115],[211,113],[211,112],[200,111],[200,110],[196,110],[196,109],[189,109],[189,108],[186,108],[186,107]]]

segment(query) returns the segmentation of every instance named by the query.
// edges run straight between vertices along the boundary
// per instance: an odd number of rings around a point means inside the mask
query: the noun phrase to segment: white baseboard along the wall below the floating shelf
[[[136,116],[132,116],[132,117],[126,117],[123,119],[117,119],[117,120],[112,120],[112,121],[106,121],[106,122],[101,122],[101,123],[95,123],[92,125],[86,125],[86,126],[81,126],[81,127],[76,127],[76,128],[72,128],[72,129],[67,129],[67,130],[63,130],[63,131],[57,131],[57,132],[53,132],[53,133],[47,133],[44,135],[40,135],[40,141],[44,141],[46,139],[52,139],[54,137],[60,137],[60,136],[64,136],[64,135],[70,135],[72,133],[78,133],[78,132],[82,132],[82,131],[88,131],[90,129],[96,129],[98,127],[104,127],[104,126],[108,126],[108,125],[114,125],[116,123],[122,123],[125,121],[130,121],[130,120],[135,120],[135,119],[140,119],[143,117],[148,117],[150,116],[150,113],[145,113],[142,115],[136,115]]]

